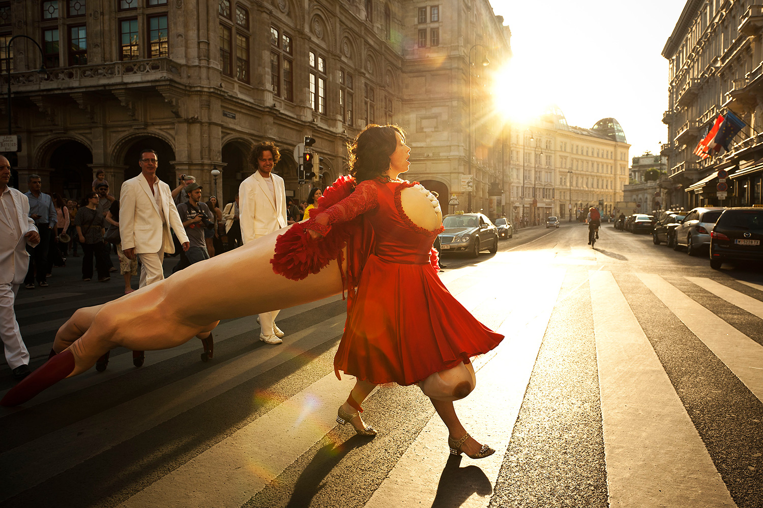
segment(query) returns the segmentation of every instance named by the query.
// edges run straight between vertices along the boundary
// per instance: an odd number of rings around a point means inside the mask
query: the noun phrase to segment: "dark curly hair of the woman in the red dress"
[[[400,126],[372,123],[347,145],[349,174],[357,182],[374,180],[389,169],[390,155],[398,148],[395,133],[405,141],[405,133]]]

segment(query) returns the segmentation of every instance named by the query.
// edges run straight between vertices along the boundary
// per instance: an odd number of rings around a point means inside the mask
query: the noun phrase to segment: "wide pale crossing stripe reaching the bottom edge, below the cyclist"
[[[736,506],[612,273],[590,284],[610,506]]]

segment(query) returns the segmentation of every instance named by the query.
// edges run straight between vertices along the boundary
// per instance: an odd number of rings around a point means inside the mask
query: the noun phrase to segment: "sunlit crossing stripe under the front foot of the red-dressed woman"
[[[512,310],[511,319],[506,319],[498,328],[507,338],[496,348],[497,354],[478,371],[475,391],[455,403],[465,427],[472,427],[478,441],[496,450],[494,455],[474,463],[462,455],[461,467],[480,468],[491,484],[490,489],[477,489],[476,492],[475,485],[465,485],[463,492],[459,493],[463,495],[458,497],[462,508],[483,508],[490,503],[513,423],[517,420],[527,383],[530,382],[565,270],[550,270],[542,277],[536,273],[525,275],[533,283],[521,286],[525,291],[521,299],[507,305]],[[516,275],[512,274],[511,283],[516,282]],[[504,279],[499,280],[497,286],[502,283]],[[517,284],[517,287],[520,285]],[[440,479],[446,474],[443,468],[449,457],[447,436],[445,423],[435,414],[389,471],[365,508],[419,508],[424,502],[429,505],[436,498]],[[433,460],[423,461],[422,457]],[[458,466],[459,463],[451,462],[448,468]],[[453,494],[454,486],[447,487],[449,494]]]

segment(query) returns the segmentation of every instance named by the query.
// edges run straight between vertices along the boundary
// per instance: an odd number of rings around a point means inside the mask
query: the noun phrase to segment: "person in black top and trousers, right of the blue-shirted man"
[[[106,218],[98,211],[98,193],[92,192],[85,196],[82,206],[77,212],[74,225],[77,227],[77,238],[82,244],[82,280],[90,280],[93,276],[93,257],[95,270],[98,272],[98,282],[111,280],[108,276],[108,248],[103,242]]]

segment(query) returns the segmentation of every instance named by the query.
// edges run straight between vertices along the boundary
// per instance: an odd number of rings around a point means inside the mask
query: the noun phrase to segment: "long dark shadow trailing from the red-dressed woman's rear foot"
[[[295,483],[286,508],[306,508],[324,487],[324,479],[353,449],[369,443],[368,437],[353,436],[339,446],[326,445],[315,454]]]

